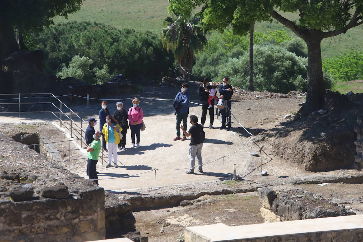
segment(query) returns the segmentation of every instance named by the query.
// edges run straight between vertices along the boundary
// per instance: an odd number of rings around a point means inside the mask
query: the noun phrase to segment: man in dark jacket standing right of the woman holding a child
[[[226,130],[231,130],[231,107],[232,107],[232,95],[233,87],[228,84],[228,77],[223,78],[223,84],[219,85],[218,92],[223,101],[226,102],[226,106],[221,109],[221,119],[222,126],[220,130],[226,128],[226,118],[227,118],[227,128]]]

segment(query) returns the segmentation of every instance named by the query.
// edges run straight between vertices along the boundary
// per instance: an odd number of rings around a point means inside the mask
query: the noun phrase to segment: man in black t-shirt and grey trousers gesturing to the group
[[[202,148],[203,141],[201,141],[201,132],[203,131],[203,127],[198,123],[198,118],[195,115],[190,115],[190,123],[192,127],[189,128],[189,131],[185,131],[184,127],[181,125],[180,128],[183,131],[186,137],[192,136],[190,138],[189,144],[189,157],[190,157],[190,170],[186,171],[187,174],[194,174],[194,166],[195,166],[195,157],[197,157],[198,161],[198,171],[203,173],[203,161],[202,161]]]

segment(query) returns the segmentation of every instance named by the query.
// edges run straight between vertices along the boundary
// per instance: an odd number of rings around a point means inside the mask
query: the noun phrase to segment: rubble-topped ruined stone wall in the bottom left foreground
[[[105,192],[0,134],[0,241],[105,239]]]

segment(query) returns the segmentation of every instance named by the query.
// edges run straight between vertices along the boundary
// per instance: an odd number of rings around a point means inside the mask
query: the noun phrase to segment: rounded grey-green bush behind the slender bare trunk
[[[287,93],[291,90],[306,91],[307,59],[288,52],[276,45],[254,46],[253,82],[256,91]],[[248,89],[249,55],[230,59],[221,68],[217,79],[229,77],[232,85]],[[329,84],[330,82],[330,84]],[[326,77],[326,88],[331,87],[331,79]]]

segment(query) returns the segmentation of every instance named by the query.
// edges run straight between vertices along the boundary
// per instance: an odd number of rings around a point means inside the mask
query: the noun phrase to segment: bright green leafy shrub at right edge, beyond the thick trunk
[[[322,60],[322,66],[336,82],[363,79],[363,51],[342,52],[339,56]]]

